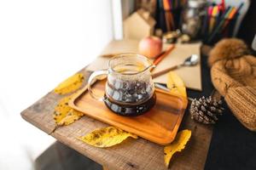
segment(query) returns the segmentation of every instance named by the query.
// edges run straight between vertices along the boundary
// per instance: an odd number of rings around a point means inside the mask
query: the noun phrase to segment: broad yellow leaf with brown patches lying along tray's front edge
[[[90,144],[99,148],[105,148],[119,144],[128,137],[137,139],[137,135],[127,133],[122,129],[116,127],[104,127],[96,129],[95,131],[92,131],[85,136],[79,137],[79,139],[84,141],[86,144]]]

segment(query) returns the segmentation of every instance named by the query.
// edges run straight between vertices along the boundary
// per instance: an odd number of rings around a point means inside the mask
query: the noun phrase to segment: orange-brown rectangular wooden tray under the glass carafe
[[[105,83],[106,81],[96,82],[94,92],[104,95]],[[110,111],[104,102],[92,99],[85,86],[73,96],[69,105],[87,116],[165,145],[175,139],[188,100],[156,89],[156,104],[150,111],[141,116],[119,116]]]

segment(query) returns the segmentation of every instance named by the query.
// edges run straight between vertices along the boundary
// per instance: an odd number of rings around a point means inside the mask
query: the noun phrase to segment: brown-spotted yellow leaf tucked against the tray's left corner
[[[84,114],[80,111],[75,111],[68,105],[68,101],[73,95],[62,98],[58,105],[55,106],[54,119],[58,126],[69,125],[78,120]]]

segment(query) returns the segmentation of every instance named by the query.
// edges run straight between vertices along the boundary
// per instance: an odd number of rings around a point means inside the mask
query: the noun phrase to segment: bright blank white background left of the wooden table
[[[0,1],[0,169],[31,169],[55,140],[20,117],[113,38],[111,0]]]

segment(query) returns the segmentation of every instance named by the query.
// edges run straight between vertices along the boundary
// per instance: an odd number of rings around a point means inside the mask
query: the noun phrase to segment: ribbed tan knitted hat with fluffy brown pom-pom
[[[232,40],[234,39],[230,39]],[[229,40],[225,41],[229,43]],[[217,44],[212,51],[219,51],[218,47]],[[230,50],[230,48],[221,48],[221,50]],[[214,54],[213,52],[211,54]],[[210,58],[214,60],[211,54]],[[256,58],[252,55],[236,56],[236,58],[224,56],[223,59],[220,57],[218,56],[218,59],[211,63],[212,83],[224,96],[236,118],[248,129],[256,131]]]

